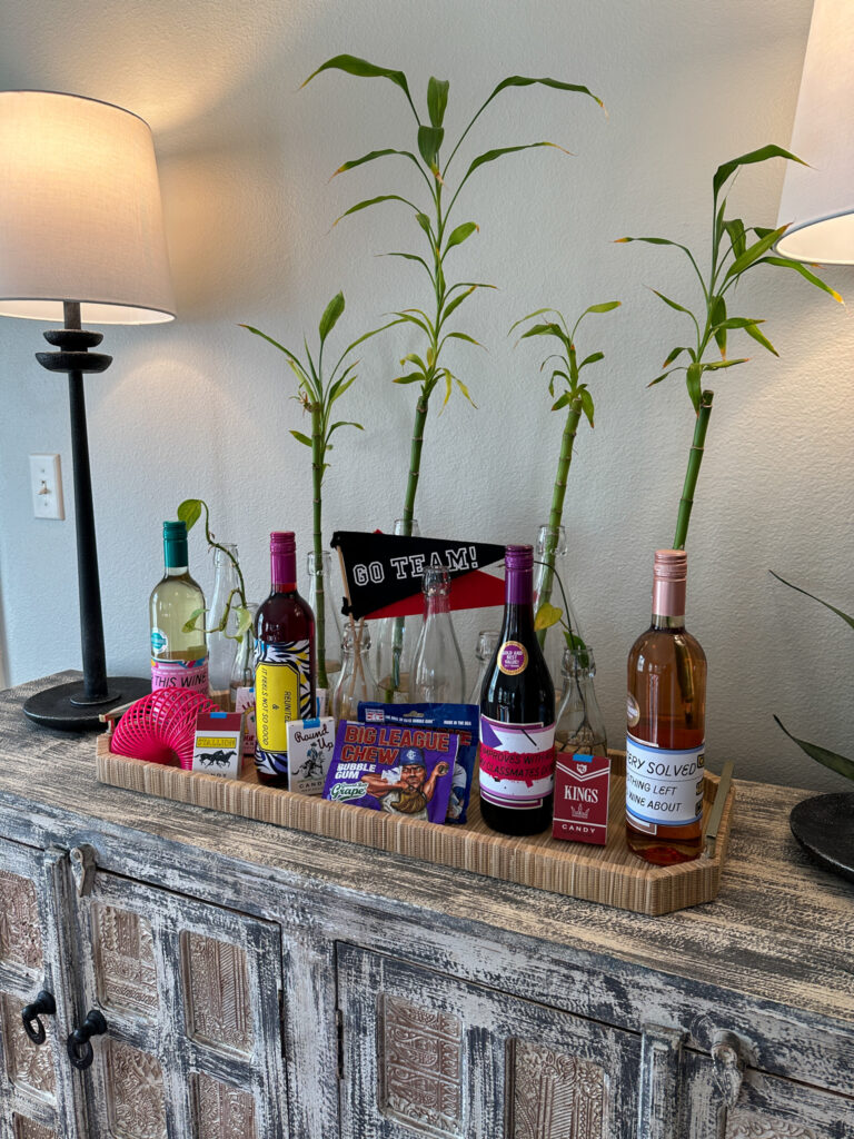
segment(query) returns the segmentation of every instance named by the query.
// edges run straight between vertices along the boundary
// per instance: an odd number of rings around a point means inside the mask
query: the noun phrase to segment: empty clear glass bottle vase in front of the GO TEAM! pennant
[[[413,704],[462,704],[466,669],[451,621],[451,575],[446,570],[424,572],[424,624],[409,673]]]

